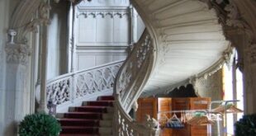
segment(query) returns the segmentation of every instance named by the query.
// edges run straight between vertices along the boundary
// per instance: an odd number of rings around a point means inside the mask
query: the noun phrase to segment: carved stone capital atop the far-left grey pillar
[[[21,63],[26,65],[28,56],[31,54],[31,49],[28,45],[10,44],[5,47],[7,54],[7,63]]]

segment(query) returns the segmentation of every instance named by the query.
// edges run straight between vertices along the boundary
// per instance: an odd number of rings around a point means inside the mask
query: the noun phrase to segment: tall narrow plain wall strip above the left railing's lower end
[[[52,1],[53,2],[53,1]],[[66,1],[53,2],[48,26],[47,79],[67,73],[68,11]]]

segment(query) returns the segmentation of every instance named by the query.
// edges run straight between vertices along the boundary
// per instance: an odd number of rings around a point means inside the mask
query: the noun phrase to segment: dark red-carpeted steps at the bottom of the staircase
[[[113,101],[113,96],[100,96],[97,101],[83,101],[83,106],[58,114],[60,136],[111,136]]]

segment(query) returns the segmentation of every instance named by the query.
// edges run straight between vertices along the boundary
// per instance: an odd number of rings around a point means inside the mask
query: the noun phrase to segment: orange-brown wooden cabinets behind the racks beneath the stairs
[[[170,118],[173,114],[157,114],[159,111],[170,110],[204,110],[210,104],[211,98],[189,97],[189,98],[140,98],[138,99],[138,110],[136,120],[143,122],[145,115],[154,119]],[[176,113],[178,118],[181,113]],[[185,124],[183,129],[161,129],[161,136],[206,136],[206,126],[192,126]]]

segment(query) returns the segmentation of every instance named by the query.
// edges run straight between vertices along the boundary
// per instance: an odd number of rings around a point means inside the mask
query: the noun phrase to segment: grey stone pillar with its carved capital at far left
[[[26,88],[26,68],[28,55],[31,54],[31,49],[28,45],[16,44],[11,40],[5,48],[7,54],[6,68],[6,105],[5,105],[5,120],[4,129],[5,136],[17,134],[17,123],[24,116],[23,109],[23,93]]]

